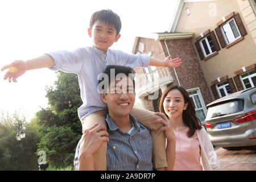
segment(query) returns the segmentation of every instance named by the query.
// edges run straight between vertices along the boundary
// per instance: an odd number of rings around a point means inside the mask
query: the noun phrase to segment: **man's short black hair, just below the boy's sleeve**
[[[114,73],[114,77],[112,77],[113,73]],[[126,75],[127,77],[130,77],[131,80],[133,81],[133,88],[135,89],[135,81],[134,81],[135,71],[133,68],[123,67],[123,66],[119,66],[119,65],[108,65],[108,67],[106,67],[105,71],[98,76],[98,91],[100,93],[102,91],[105,91],[105,93],[106,93],[106,89],[107,89],[107,88],[104,88],[104,84],[101,84],[101,82],[105,81],[105,80],[104,79],[100,80],[99,77],[104,78],[104,75],[107,76],[108,77],[108,85],[109,85],[110,82],[115,80],[115,78],[117,77],[117,75],[119,73],[122,73],[122,74]],[[101,86],[101,88],[99,88],[99,86]]]

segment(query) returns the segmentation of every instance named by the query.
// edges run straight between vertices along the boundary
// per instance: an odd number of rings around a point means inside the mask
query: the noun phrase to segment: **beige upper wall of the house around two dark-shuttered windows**
[[[216,80],[217,77],[226,75],[229,78],[234,77],[236,76],[234,72],[241,69],[241,67],[247,67],[256,63],[255,43],[243,18],[240,9],[241,5],[238,5],[237,1],[241,0],[187,2],[184,3],[183,10],[181,11],[175,32],[194,32],[195,36],[192,38],[193,43],[195,43],[195,39],[200,33],[204,33],[208,29],[211,31],[214,30],[217,28],[216,23],[223,16],[233,11],[240,14],[246,28],[247,35],[244,36],[245,39],[241,42],[228,49],[221,48],[218,51],[218,55],[206,61],[199,59],[208,86],[212,85],[211,82]],[[187,8],[191,12],[190,15],[187,15]],[[195,44],[193,46],[195,47]]]

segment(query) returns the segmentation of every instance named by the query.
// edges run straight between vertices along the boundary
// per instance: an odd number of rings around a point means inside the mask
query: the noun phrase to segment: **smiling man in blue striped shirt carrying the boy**
[[[152,170],[150,131],[130,114],[135,101],[134,74],[129,67],[110,65],[100,76],[104,78],[98,84],[103,89],[101,100],[108,105],[107,127],[96,124],[85,130],[76,149],[76,170],[94,170],[93,154],[104,141],[108,142],[107,170]],[[155,123],[164,125],[157,132],[166,133],[166,169],[170,170],[174,166],[176,139],[170,121],[164,114],[158,115],[163,119]]]

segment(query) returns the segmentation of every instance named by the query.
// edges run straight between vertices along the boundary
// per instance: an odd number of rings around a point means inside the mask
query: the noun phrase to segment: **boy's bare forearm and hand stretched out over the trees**
[[[13,63],[3,66],[1,71],[9,69],[9,71],[5,73],[5,76],[3,76],[3,79],[8,79],[9,82],[11,82],[11,80],[17,82],[16,79],[30,69],[48,68],[53,67],[54,65],[55,63],[51,56],[43,55],[27,61],[15,60]]]

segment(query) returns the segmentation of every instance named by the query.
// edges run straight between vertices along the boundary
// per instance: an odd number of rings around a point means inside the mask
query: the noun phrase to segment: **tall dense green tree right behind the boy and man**
[[[49,107],[36,113],[41,138],[38,152],[46,152],[46,159],[54,168],[73,167],[82,134],[77,114],[82,104],[77,75],[58,71],[57,81],[54,86],[47,86],[46,92]]]

